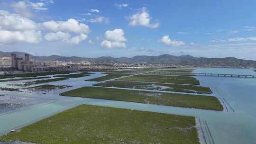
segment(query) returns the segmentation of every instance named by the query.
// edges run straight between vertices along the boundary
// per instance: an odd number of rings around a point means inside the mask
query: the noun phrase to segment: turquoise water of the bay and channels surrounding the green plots
[[[251,69],[197,69],[195,72],[256,75],[256,72]],[[35,98],[57,99],[57,101],[53,103],[15,111],[6,115],[0,115],[0,133],[26,126],[66,108],[87,103],[115,108],[129,108],[194,116],[207,122],[210,136],[215,144],[256,144],[256,78],[197,76],[197,79],[200,80],[202,86],[208,86],[213,90],[212,95],[219,99],[226,100],[224,103],[228,108],[228,112],[157,106],[102,99],[70,98],[58,95],[67,90],[82,86],[90,86],[95,82],[84,80],[99,77],[101,75],[101,73],[97,72],[90,77],[52,82],[51,84],[73,85],[73,88],[60,90],[58,92],[55,91],[46,95],[8,91],[0,92]]]

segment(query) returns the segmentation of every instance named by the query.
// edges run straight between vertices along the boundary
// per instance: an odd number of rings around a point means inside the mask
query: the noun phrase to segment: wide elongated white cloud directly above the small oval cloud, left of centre
[[[74,33],[86,33],[90,32],[89,26],[79,23],[77,20],[70,18],[67,21],[46,21],[40,23],[41,28],[51,30],[51,31],[64,31],[64,32],[74,32]]]

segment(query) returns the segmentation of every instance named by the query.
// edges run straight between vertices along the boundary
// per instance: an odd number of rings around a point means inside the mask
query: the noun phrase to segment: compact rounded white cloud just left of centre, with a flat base
[[[126,48],[125,41],[127,39],[124,36],[124,31],[122,29],[108,30],[105,32],[105,39],[101,42],[101,47],[107,48]]]

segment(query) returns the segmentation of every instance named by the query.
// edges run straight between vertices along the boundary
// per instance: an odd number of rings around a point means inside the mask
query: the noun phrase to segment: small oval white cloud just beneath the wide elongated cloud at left
[[[59,41],[59,40],[67,40],[69,39],[70,34],[69,33],[64,33],[64,32],[56,32],[56,33],[48,33],[44,38],[47,41]]]

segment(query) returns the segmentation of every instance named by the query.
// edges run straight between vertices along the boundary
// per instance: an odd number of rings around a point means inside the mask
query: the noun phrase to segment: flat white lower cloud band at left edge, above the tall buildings
[[[18,42],[39,43],[41,41],[41,31],[7,31],[0,30],[1,44],[15,44]]]

